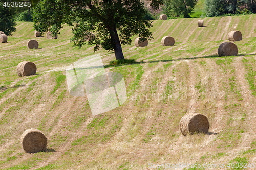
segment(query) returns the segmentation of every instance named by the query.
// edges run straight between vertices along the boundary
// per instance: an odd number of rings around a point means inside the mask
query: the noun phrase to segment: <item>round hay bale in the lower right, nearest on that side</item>
[[[209,127],[210,124],[208,118],[203,114],[188,113],[180,120],[180,131],[184,136],[195,132],[207,133]]]

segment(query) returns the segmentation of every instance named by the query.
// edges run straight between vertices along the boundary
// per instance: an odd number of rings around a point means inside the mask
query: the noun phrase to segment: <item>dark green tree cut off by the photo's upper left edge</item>
[[[12,35],[14,32],[16,23],[14,22],[13,8],[3,6],[3,2],[0,2],[0,31],[3,31],[7,36]]]

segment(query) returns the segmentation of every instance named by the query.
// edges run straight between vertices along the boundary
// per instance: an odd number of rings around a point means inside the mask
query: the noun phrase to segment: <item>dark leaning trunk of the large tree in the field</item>
[[[116,28],[110,30],[110,37],[113,44],[116,60],[124,60],[123,51]]]

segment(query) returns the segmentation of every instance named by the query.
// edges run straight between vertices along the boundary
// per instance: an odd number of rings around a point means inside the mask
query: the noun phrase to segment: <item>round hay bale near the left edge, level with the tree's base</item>
[[[35,75],[36,66],[32,62],[23,61],[17,65],[16,70],[17,70],[18,76],[30,76],[30,75]]]

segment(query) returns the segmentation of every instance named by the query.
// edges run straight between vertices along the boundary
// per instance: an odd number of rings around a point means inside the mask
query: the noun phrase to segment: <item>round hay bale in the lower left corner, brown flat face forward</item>
[[[38,129],[28,129],[20,137],[22,148],[27,153],[35,153],[46,150],[47,138]]]

